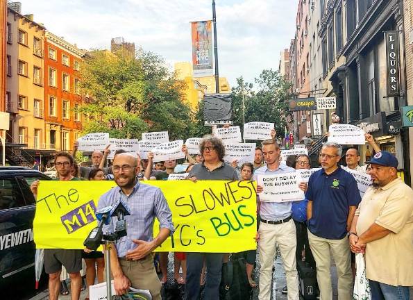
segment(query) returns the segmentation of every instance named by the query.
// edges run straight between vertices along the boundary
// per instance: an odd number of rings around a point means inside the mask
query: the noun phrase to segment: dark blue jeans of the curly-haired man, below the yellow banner
[[[201,288],[201,271],[203,260],[207,267],[205,294],[203,299],[219,299],[221,283],[222,253],[187,253],[187,278],[185,283],[185,300],[198,300]]]

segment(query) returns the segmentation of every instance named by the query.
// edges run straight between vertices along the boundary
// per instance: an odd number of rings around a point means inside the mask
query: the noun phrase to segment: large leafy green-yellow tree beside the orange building
[[[81,67],[87,95],[81,112],[84,133],[109,132],[112,138],[140,138],[146,131],[169,131],[171,139],[187,136],[190,109],[183,99],[185,82],[169,72],[154,53],[91,51]]]

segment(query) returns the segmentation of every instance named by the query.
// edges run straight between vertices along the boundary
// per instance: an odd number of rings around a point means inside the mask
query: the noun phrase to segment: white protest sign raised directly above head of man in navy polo
[[[333,124],[328,127],[328,142],[337,144],[365,144],[362,128],[350,124]]]

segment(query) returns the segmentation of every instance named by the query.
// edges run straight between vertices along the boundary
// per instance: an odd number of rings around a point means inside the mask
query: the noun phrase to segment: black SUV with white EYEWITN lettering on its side
[[[27,167],[0,167],[0,286],[16,283],[26,270],[33,272],[34,286],[35,198],[30,185],[36,179],[51,180]]]

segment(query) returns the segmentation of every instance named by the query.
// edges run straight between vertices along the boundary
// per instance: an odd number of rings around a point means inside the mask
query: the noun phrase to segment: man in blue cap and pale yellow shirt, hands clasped
[[[372,299],[410,299],[413,285],[413,191],[397,176],[387,151],[371,161],[366,190],[349,232],[353,252],[364,252]]]

